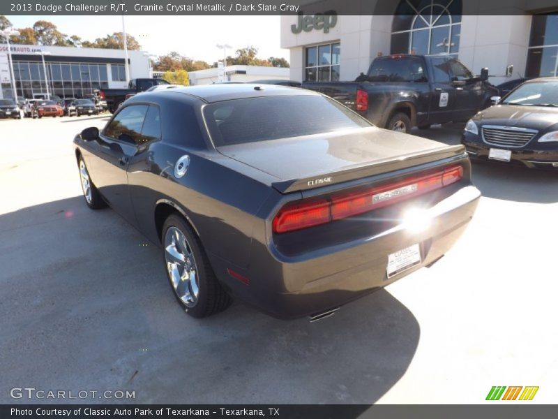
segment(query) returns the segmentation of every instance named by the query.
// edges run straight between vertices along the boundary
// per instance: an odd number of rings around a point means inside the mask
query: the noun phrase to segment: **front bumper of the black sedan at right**
[[[516,165],[516,166],[527,166],[528,168],[538,168],[538,169],[558,169],[558,149],[533,149],[527,144],[525,147],[521,148],[511,148],[511,147],[498,147],[490,146],[483,142],[480,142],[478,135],[472,135],[465,133],[461,138],[462,145],[465,145],[465,150],[469,157],[478,160],[490,160],[496,163]],[[498,161],[488,159],[488,153],[490,148],[497,149],[508,149],[511,151],[510,161]]]

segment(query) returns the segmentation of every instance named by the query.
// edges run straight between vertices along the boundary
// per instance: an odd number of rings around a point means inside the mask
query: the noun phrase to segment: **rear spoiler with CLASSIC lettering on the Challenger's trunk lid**
[[[320,186],[338,184],[349,180],[380,175],[386,172],[393,172],[395,170],[419,166],[424,163],[431,163],[432,161],[458,156],[467,156],[467,153],[465,153],[465,147],[462,145],[444,146],[429,150],[428,152],[416,152],[402,155],[396,160],[389,158],[355,165],[337,172],[317,173],[315,176],[305,177],[303,179],[290,179],[283,180],[281,182],[274,182],[271,186],[273,186],[273,188],[280,193],[306,191]]]

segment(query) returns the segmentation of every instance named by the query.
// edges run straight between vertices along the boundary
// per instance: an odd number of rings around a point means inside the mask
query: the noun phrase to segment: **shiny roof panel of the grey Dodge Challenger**
[[[316,96],[315,91],[295,89],[294,87],[278,86],[276,84],[204,84],[201,86],[176,87],[175,89],[163,89],[151,91],[149,94],[188,94],[196,96],[208,103],[228,101],[239,98],[252,98],[262,96]],[[142,95],[144,96],[144,95]]]

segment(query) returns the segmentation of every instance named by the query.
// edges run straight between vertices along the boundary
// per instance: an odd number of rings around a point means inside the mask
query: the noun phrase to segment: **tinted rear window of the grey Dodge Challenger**
[[[371,126],[324,96],[269,96],[211,103],[204,117],[216,146]]]

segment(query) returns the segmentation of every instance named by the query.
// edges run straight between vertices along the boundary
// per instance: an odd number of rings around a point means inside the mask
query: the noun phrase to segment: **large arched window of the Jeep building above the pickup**
[[[459,52],[461,0],[401,0],[391,25],[391,54]]]

